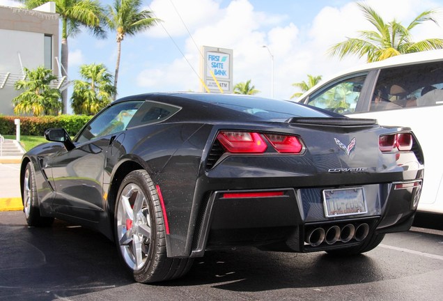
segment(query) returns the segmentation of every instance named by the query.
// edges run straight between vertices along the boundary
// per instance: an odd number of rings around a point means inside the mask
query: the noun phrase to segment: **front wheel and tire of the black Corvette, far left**
[[[54,222],[54,217],[42,217],[40,215],[36,173],[32,168],[31,162],[28,162],[26,165],[22,187],[23,212],[26,223],[29,226],[51,226],[52,222]]]

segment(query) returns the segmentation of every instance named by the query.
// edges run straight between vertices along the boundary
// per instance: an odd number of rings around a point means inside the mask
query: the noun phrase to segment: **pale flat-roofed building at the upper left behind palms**
[[[12,100],[20,94],[14,84],[24,78],[23,67],[43,65],[59,74],[59,15],[54,2],[34,10],[0,6],[0,21],[0,114],[13,115]]]

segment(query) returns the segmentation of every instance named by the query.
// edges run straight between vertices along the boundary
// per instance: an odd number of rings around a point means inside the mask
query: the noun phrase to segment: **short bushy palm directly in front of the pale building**
[[[23,92],[13,99],[15,114],[32,113],[33,116],[57,115],[61,109],[60,90],[49,86],[54,79],[52,70],[42,66],[36,70],[23,68],[25,78],[15,82],[15,90]]]

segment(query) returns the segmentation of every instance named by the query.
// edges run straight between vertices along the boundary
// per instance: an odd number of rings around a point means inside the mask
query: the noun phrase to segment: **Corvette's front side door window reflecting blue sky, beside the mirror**
[[[125,130],[143,102],[142,100],[121,102],[102,111],[81,132],[77,142],[89,141]]]

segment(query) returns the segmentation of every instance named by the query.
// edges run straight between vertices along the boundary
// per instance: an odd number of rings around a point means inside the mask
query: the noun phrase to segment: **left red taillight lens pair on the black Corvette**
[[[267,148],[256,132],[219,132],[217,139],[229,153],[264,153]]]

